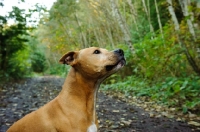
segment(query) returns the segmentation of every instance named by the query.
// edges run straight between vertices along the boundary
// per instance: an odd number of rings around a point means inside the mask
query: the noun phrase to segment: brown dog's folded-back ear
[[[60,58],[59,62],[61,64],[67,64],[73,66],[76,63],[76,57],[77,57],[77,52],[70,51],[63,55],[63,57]]]

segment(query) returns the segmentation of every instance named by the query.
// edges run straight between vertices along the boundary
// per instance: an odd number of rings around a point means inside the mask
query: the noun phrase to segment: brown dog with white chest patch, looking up
[[[7,132],[97,132],[97,91],[104,79],[125,65],[123,50],[86,48],[68,52],[60,63],[71,65],[60,94]]]

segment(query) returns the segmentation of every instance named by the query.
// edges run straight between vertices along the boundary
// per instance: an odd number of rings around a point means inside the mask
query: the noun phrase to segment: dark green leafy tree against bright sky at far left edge
[[[24,15],[24,10],[13,7],[9,16],[0,16],[2,21],[0,25],[0,68],[2,71],[8,72],[10,59],[19,50],[25,48],[27,39],[23,35],[27,35],[28,28],[26,27],[26,17]],[[8,19],[14,19],[16,24],[9,26]]]

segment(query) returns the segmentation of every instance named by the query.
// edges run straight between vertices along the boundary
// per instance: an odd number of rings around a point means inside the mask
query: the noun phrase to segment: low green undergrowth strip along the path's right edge
[[[104,83],[102,90],[124,93],[125,96],[147,96],[157,103],[178,107],[183,113],[195,111],[200,114],[200,77],[166,77],[155,82],[128,76],[123,81]]]

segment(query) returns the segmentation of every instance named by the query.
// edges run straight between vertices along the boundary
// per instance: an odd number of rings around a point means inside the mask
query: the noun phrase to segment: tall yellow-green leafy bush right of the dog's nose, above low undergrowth
[[[140,75],[148,79],[160,76],[187,76],[192,73],[184,49],[177,43],[173,29],[166,25],[164,39],[160,34],[147,34],[142,42],[134,44],[136,59],[133,64]],[[174,35],[174,36],[173,36]],[[135,74],[137,74],[135,73]]]

